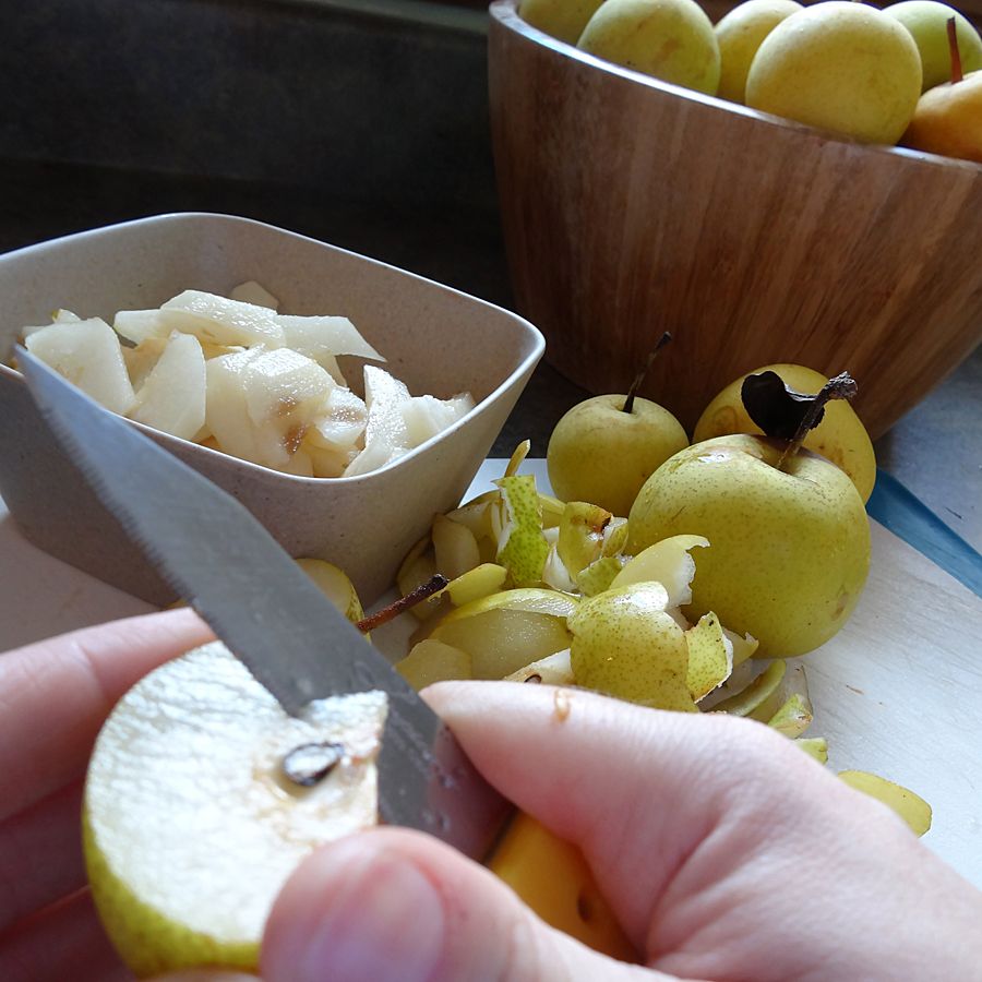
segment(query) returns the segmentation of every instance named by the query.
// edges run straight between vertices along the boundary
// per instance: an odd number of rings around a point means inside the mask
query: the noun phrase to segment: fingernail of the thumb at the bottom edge
[[[325,851],[327,902],[312,911],[308,936],[298,939],[298,980],[433,977],[443,949],[441,898],[411,861],[371,840],[355,836]]]

